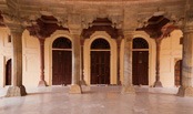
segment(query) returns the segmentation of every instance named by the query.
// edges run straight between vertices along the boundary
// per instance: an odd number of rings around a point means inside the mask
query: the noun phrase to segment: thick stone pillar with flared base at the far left
[[[12,35],[12,85],[8,89],[6,96],[27,95],[26,87],[22,85],[22,32],[21,28],[11,29]]]

